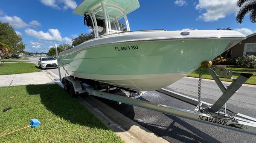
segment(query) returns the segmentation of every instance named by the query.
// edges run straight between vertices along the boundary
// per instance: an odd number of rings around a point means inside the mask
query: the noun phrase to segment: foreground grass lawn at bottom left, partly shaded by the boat
[[[10,98],[15,96],[14,98]],[[41,125],[0,138],[0,143],[124,143],[57,84],[0,88],[0,135],[29,125]]]

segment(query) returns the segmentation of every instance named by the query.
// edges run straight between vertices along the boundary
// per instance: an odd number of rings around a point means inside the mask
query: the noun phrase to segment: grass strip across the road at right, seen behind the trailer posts
[[[233,71],[232,77],[237,78],[239,76],[239,73],[253,73],[253,76],[250,77],[245,83],[246,84],[254,84],[256,85],[256,69],[248,69],[248,68],[231,68],[228,67],[229,70]],[[238,72],[238,73],[235,73]],[[195,70],[194,72],[190,73],[189,77],[195,77],[198,78],[199,76],[199,69]],[[202,69],[202,78],[203,79],[212,79],[212,76],[208,73],[207,69]],[[231,79],[224,79],[220,78],[221,81],[232,81]]]

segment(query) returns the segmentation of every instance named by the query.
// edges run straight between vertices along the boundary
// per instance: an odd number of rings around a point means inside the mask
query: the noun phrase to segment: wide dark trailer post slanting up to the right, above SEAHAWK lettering
[[[221,97],[212,105],[210,112],[217,112],[237,92],[237,90],[249,79],[253,73],[241,73],[225,90]]]

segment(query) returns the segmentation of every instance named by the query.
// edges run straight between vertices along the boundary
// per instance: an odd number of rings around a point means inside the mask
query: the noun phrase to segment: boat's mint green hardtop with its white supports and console
[[[126,14],[139,8],[138,0],[84,0],[73,11],[84,16],[84,24],[93,28],[94,36],[104,30],[105,35],[130,31]],[[124,18],[126,29],[120,19]],[[104,29],[105,28],[105,29]]]

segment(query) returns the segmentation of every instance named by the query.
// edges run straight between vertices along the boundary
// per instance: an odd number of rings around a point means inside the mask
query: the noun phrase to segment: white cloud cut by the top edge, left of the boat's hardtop
[[[68,8],[75,9],[77,4],[74,0],[40,0],[46,6],[61,10],[61,7],[66,10]]]

